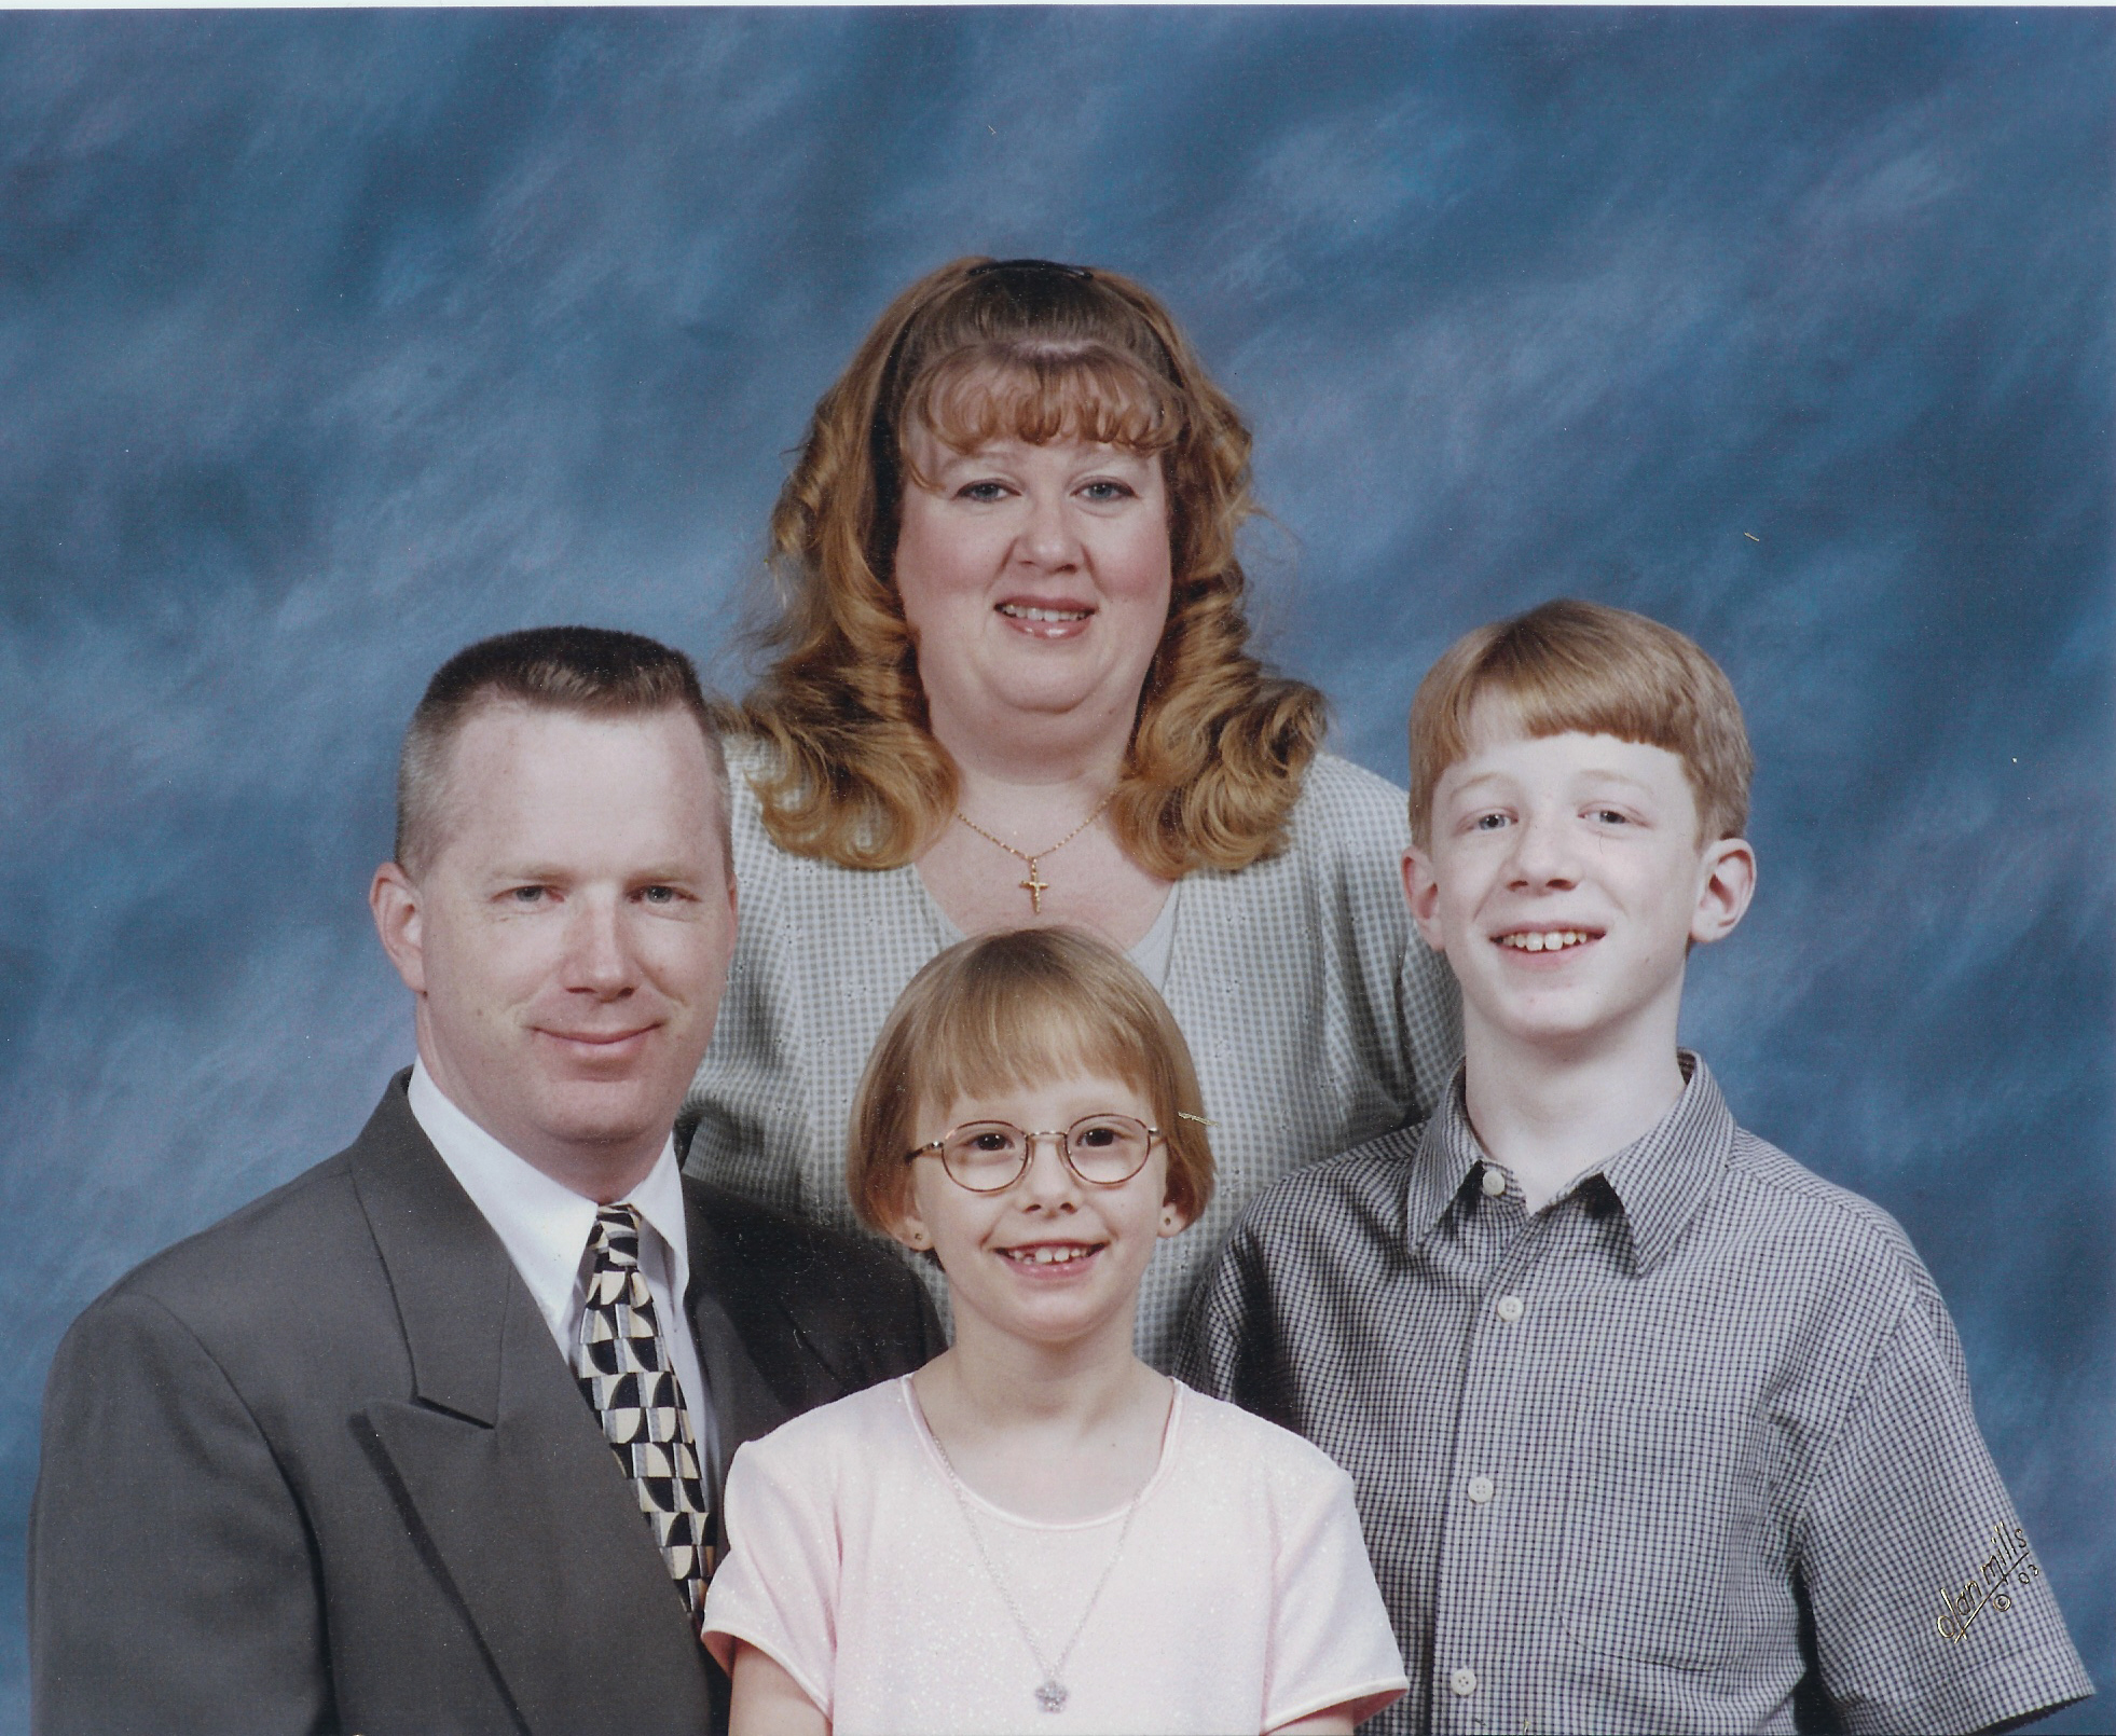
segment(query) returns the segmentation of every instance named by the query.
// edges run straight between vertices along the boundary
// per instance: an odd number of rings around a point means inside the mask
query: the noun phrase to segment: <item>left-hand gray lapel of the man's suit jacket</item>
[[[703,1647],[631,1484],[402,1081],[351,1165],[415,1377],[366,1427],[523,1725],[703,1730]]]

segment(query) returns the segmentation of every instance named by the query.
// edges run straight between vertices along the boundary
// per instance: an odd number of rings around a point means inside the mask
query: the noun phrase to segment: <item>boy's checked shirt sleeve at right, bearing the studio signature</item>
[[[1883,1338],[1794,1541],[1822,1687],[1847,1732],[1985,1730],[2093,1694],[1976,1429],[1936,1290],[1913,1294]]]

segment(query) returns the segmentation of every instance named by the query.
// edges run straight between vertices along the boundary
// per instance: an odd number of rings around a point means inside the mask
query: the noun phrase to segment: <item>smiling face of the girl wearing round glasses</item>
[[[1096,1114],[1155,1121],[1136,1085],[1069,1074],[931,1106],[918,1127],[933,1140],[971,1121],[1045,1133]],[[999,1193],[971,1193],[948,1176],[937,1152],[923,1152],[912,1159],[910,1201],[895,1233],[940,1256],[959,1332],[984,1328],[1045,1347],[1111,1334],[1130,1349],[1153,1243],[1185,1226],[1166,1203],[1166,1180],[1162,1140],[1128,1182],[1096,1186],[1073,1174],[1056,1135],[1037,1138],[1028,1169]]]

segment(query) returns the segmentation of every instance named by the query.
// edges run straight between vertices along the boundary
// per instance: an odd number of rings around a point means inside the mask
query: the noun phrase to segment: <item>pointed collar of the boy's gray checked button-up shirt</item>
[[[1678,1051],[1689,1085],[1653,1129],[1581,1176],[1551,1207],[1562,1209],[1581,1190],[1615,1199],[1631,1245],[1631,1271],[1653,1271],[1697,1216],[1714,1178],[1733,1152],[1733,1114],[1712,1070],[1689,1049]],[[1462,1068],[1433,1110],[1418,1140],[1405,1197],[1405,1231],[1418,1248],[1441,1216],[1466,1193],[1471,1209],[1483,1203],[1471,1176],[1485,1163],[1483,1146],[1462,1106]]]

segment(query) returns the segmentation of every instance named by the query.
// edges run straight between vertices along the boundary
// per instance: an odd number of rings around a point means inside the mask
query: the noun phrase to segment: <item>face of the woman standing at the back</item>
[[[935,734],[1016,713],[1107,713],[1130,730],[1168,624],[1162,461],[1124,446],[925,427],[897,524],[895,586]]]

